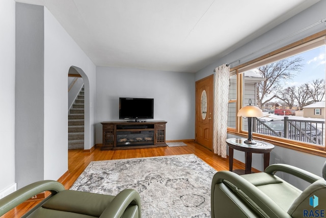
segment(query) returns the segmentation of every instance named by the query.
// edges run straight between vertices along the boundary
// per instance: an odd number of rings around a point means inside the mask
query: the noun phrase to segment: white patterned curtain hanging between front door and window
[[[230,66],[215,69],[213,151],[226,158]]]

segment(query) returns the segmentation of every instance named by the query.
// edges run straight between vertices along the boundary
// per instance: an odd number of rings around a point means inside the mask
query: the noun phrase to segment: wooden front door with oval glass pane
[[[196,81],[195,141],[213,149],[213,81],[214,75]]]

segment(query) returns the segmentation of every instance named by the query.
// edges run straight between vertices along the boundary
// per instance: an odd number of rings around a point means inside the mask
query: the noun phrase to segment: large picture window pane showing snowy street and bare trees
[[[322,45],[244,72],[245,81],[248,72],[257,78],[256,90],[245,87],[244,96],[256,95],[261,109],[274,111],[256,119],[254,132],[324,147],[325,119],[314,107],[325,101],[325,59]]]

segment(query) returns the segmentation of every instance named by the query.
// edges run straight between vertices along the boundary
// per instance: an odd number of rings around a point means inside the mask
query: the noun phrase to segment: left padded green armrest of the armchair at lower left
[[[60,182],[53,180],[38,181],[26,185],[16,190],[14,193],[0,199],[0,216],[39,193],[49,191],[54,195],[64,189],[65,187]]]

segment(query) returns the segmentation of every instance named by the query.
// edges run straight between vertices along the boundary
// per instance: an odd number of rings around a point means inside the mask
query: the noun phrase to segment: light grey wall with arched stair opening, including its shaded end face
[[[43,6],[16,3],[16,181],[18,187],[68,171],[69,68],[87,81],[86,149],[95,145],[92,61]],[[83,78],[84,78],[83,77]]]

